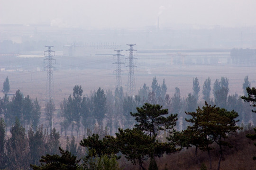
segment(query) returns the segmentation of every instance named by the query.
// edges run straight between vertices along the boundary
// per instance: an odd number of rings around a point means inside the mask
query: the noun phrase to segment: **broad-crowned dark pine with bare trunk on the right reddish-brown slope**
[[[231,147],[231,144],[226,140],[228,134],[232,134],[241,129],[236,126],[238,120],[238,113],[234,110],[227,111],[220,109],[219,107],[208,105],[202,109],[198,108],[197,112],[187,113],[192,116],[192,119],[187,121],[194,123],[192,127],[188,127],[185,132],[191,135],[187,135],[190,139],[189,144],[195,145],[201,149],[209,149],[209,144],[213,141],[219,146],[219,164],[223,157],[224,146]],[[208,150],[209,151],[209,150]]]

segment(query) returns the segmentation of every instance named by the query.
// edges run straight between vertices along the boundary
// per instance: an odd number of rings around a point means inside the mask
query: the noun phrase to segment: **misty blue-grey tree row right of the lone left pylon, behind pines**
[[[250,87],[248,76],[245,77],[241,86],[247,95],[246,88]],[[132,128],[135,120],[130,112],[136,112],[136,108],[140,108],[144,103],[159,104],[170,113],[177,114],[178,130],[185,129],[188,125],[185,121],[188,118],[185,112],[195,111],[198,106],[202,107],[205,101],[229,111],[237,111],[242,126],[251,124],[256,119],[251,113],[249,103],[244,102],[238,94],[229,94],[229,79],[226,77],[216,79],[213,88],[211,79],[208,77],[202,85],[202,96],[200,96],[201,86],[197,77],[193,79],[192,92],[186,98],[181,97],[178,87],[175,87],[175,93],[172,96],[167,94],[165,79],[159,84],[154,77],[150,87],[144,84],[134,97],[125,94],[122,87],[116,88],[114,93],[110,90],[104,92],[99,88],[88,96],[83,95],[82,87],[76,85],[73,88],[73,95],[64,99],[60,105],[61,116],[64,118],[61,122],[64,135],[67,135],[68,128],[72,135],[73,129],[79,135],[81,125],[84,128],[82,135],[88,136],[93,133],[95,125],[106,127],[110,135],[117,132],[119,127]]]

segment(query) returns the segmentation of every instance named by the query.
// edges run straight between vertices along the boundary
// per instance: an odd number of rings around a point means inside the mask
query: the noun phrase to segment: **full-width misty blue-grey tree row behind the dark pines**
[[[244,78],[241,87],[244,90],[244,95],[247,96],[246,88],[250,87],[248,76]],[[150,87],[144,84],[134,97],[125,94],[122,87],[116,88],[114,93],[99,88],[97,91],[85,95],[82,86],[75,85],[73,94],[67,99],[63,99],[60,103],[61,109],[57,113],[53,100],[47,102],[45,109],[41,110],[37,98],[33,101],[29,95],[24,97],[17,90],[11,99],[8,95],[0,98],[0,115],[9,129],[18,118],[26,130],[32,127],[35,131],[41,122],[49,133],[52,124],[54,127],[60,127],[58,131],[61,136],[90,136],[92,133],[103,133],[103,131],[114,135],[119,127],[134,127],[135,119],[130,112],[136,112],[137,107],[140,108],[147,102],[159,104],[164,109],[168,109],[170,113],[177,114],[179,120],[176,129],[181,131],[188,126],[185,119],[189,117],[185,112],[196,111],[198,106],[202,107],[206,101],[229,111],[237,111],[239,124],[242,127],[256,122],[256,116],[252,114],[250,104],[244,102],[238,94],[229,94],[228,78],[216,79],[212,85],[211,79],[208,77],[201,88],[198,78],[195,77],[191,89],[192,92],[187,97],[181,97],[180,89],[175,87],[175,93],[171,96],[166,93],[165,79],[159,84],[156,77],[153,78]],[[44,118],[41,118],[42,115]],[[53,122],[53,118],[56,116],[58,124]]]

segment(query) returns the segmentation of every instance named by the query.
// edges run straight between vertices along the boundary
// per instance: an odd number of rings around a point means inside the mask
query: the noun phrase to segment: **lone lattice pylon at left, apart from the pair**
[[[55,67],[52,65],[52,61],[56,59],[52,58],[52,52],[55,53],[55,51],[52,51],[52,47],[54,46],[45,46],[48,48],[47,51],[45,51],[45,55],[46,52],[47,54],[47,58],[44,59],[47,60],[47,66],[45,67],[45,69],[47,70],[47,81],[46,81],[46,102],[50,102],[51,99],[53,99],[53,95],[54,95],[54,81],[53,81],[53,70],[55,69]]]

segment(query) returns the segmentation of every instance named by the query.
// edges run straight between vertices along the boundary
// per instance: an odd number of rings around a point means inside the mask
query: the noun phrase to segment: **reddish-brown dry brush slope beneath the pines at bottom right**
[[[220,163],[220,170],[256,170],[256,161],[253,161],[253,155],[256,155],[256,147],[254,141],[248,139],[246,134],[254,133],[252,129],[240,131],[235,136],[229,136],[227,140],[233,145],[232,148],[226,147],[224,158]],[[215,170],[219,161],[219,150],[216,144],[210,152],[212,157],[212,170]],[[207,170],[210,170],[209,157],[207,152],[198,152],[201,163],[204,163]],[[180,152],[164,155],[156,159],[159,170],[200,170],[200,166],[196,164],[195,148],[183,149]],[[148,167],[149,161],[145,162]],[[125,158],[119,161],[119,165],[124,170],[139,170],[138,165],[132,165]]]

